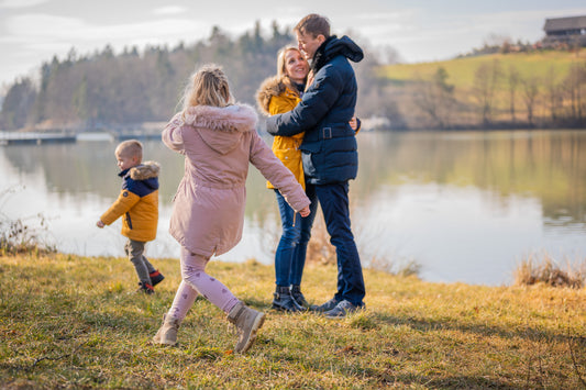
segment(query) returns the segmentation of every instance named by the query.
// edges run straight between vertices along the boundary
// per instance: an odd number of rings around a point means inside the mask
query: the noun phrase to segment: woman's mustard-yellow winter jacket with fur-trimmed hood
[[[300,101],[299,93],[287,87],[276,76],[263,81],[256,93],[259,109],[267,115],[291,111]],[[303,164],[299,146],[303,141],[303,133],[294,136],[277,135],[273,138],[273,153],[295,175],[297,181],[306,189]],[[267,181],[267,188],[275,188]]]

